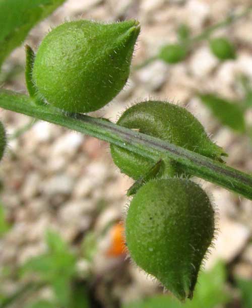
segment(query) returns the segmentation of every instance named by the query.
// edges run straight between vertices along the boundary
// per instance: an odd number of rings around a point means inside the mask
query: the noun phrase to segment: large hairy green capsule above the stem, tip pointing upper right
[[[33,82],[49,104],[70,112],[89,112],[110,102],[123,88],[138,34],[135,20],[102,24],[67,22],[41,42]]]

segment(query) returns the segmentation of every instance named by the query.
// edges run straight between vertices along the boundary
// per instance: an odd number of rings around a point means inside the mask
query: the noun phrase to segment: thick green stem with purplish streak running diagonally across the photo
[[[79,113],[67,114],[50,105],[37,105],[27,95],[4,89],[0,90],[0,107],[96,137],[152,159],[153,162],[172,159],[180,163],[184,171],[252,200],[251,175],[158,138],[118,126],[102,118]]]

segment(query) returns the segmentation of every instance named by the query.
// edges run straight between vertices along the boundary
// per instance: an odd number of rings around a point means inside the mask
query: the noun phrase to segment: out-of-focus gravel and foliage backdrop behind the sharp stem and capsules
[[[139,20],[127,86],[91,115],[116,121],[148,98],[186,106],[229,154],[228,165],[251,173],[251,6],[248,0],[68,0],[25,43],[36,50],[66,20]],[[235,55],[220,58],[208,38],[197,39],[240,14],[210,35],[225,37]],[[157,56],[164,45],[186,40],[193,44],[181,61]],[[1,85],[26,93],[24,65],[21,46],[5,61]],[[133,182],[114,166],[108,144],[21,114],[0,110],[0,116],[10,137],[0,166],[0,307],[181,307],[125,255],[120,221]],[[252,202],[195,180],[218,209],[220,231],[195,299],[185,306],[252,307]]]

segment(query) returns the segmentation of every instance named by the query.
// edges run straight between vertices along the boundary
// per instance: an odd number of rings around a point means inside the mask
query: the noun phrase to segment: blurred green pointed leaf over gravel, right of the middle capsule
[[[237,102],[231,102],[211,93],[200,94],[199,97],[223,125],[239,133],[244,133],[244,113]]]

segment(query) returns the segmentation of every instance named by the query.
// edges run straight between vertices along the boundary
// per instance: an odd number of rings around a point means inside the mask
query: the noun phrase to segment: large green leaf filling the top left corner
[[[65,0],[0,0],[0,67],[30,29]]]

